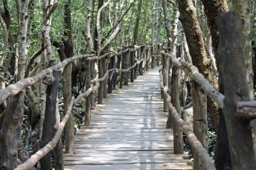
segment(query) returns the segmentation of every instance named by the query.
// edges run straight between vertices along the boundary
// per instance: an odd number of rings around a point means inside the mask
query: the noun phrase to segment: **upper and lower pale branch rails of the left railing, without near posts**
[[[52,75],[54,71],[61,71],[63,73],[63,70],[69,63],[79,60],[79,59],[84,59],[84,60],[89,60],[89,61],[94,61],[94,60],[100,60],[102,58],[106,58],[108,60],[109,58],[112,58],[114,56],[121,56],[121,60],[126,60],[125,58],[130,58],[131,53],[133,52],[134,54],[134,62],[129,62],[129,65],[127,65],[127,68],[122,67],[122,63],[119,63],[118,67],[115,68],[110,68],[106,71],[103,77],[99,77],[98,79],[92,79],[90,81],[90,88],[87,89],[84,93],[79,94],[76,98],[72,97],[71,101],[68,104],[68,109],[67,112],[65,112],[65,116],[63,120],[61,120],[59,127],[55,131],[55,135],[53,136],[52,140],[49,141],[45,146],[40,148],[34,155],[28,159],[25,163],[22,163],[21,165],[18,165],[16,169],[31,169],[42,159],[45,155],[47,155],[55,146],[57,146],[57,143],[59,142],[59,139],[61,138],[63,129],[67,123],[67,120],[69,120],[69,117],[72,114],[72,108],[73,106],[77,105],[79,101],[81,101],[84,98],[88,98],[92,96],[96,91],[98,91],[100,87],[100,83],[104,85],[103,82],[106,82],[108,79],[109,73],[120,73],[121,75],[124,73],[129,73],[131,70],[135,69],[138,67],[137,70],[142,71],[143,65],[141,63],[146,62],[144,67],[149,68],[150,67],[150,59],[152,60],[152,57],[150,57],[150,51],[151,51],[152,46],[147,46],[147,45],[140,45],[140,46],[133,46],[132,48],[127,48],[125,50],[121,50],[119,52],[108,52],[103,54],[102,56],[96,56],[95,54],[82,54],[79,56],[73,56],[71,58],[67,58],[63,60],[62,62],[59,62],[57,65],[54,65],[53,67],[49,67],[48,69],[44,69],[43,71],[40,71],[37,75],[34,75],[33,77],[27,77],[25,79],[22,79],[18,81],[17,83],[14,83],[12,85],[9,85],[5,89],[2,89],[0,91],[0,104],[6,101],[9,97],[16,95],[26,89],[27,87],[30,87],[32,85],[36,85],[39,81],[42,81],[46,78],[48,75]],[[120,48],[121,49],[121,48]],[[135,52],[140,53],[140,54],[135,54]],[[129,54],[129,55],[128,55]],[[151,54],[152,56],[152,54]],[[136,61],[137,60],[137,61]],[[154,60],[152,61],[154,62]],[[141,67],[141,68],[139,68]],[[145,68],[144,68],[145,69]],[[145,69],[147,70],[147,69]],[[133,76],[138,74],[138,72],[134,71]],[[128,74],[127,74],[128,75]],[[137,76],[137,75],[136,75]],[[63,77],[65,79],[65,77]],[[129,77],[123,77],[123,79],[129,79]],[[108,81],[110,81],[108,79]],[[52,83],[52,82],[51,82]],[[107,83],[107,82],[106,82]],[[123,83],[123,82],[121,82]],[[8,114],[8,113],[7,113]]]

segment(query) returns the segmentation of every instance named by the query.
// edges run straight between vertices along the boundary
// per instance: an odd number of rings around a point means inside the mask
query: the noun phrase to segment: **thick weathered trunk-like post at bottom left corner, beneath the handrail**
[[[15,105],[15,107],[13,107]],[[18,146],[24,116],[24,92],[10,97],[0,130],[1,169],[12,170],[18,165]]]

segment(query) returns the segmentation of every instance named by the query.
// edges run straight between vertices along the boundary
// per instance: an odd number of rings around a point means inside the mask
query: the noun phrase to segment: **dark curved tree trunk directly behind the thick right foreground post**
[[[203,3],[205,15],[207,16],[207,25],[210,28],[212,35],[212,47],[214,54],[216,54],[216,61],[218,70],[220,70],[219,62],[221,58],[218,58],[217,50],[219,44],[219,32],[216,24],[216,17],[220,14],[228,11],[228,4],[226,0],[201,0]],[[220,73],[219,79],[219,91],[224,94],[222,75]],[[217,169],[228,170],[231,169],[230,154],[229,154],[229,144],[228,144],[228,134],[226,130],[226,121],[224,120],[223,111],[219,109],[219,123],[217,131],[216,140],[216,153],[215,153],[215,164]],[[217,128],[217,127],[216,127]]]

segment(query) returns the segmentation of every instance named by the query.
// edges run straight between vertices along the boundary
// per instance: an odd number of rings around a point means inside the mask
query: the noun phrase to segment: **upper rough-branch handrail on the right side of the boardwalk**
[[[223,109],[224,95],[216,89],[214,89],[214,87],[212,87],[209,81],[207,81],[207,79],[205,79],[203,75],[199,73],[197,67],[195,67],[189,62],[186,62],[185,60],[177,60],[177,58],[174,57],[173,54],[168,54],[165,52],[162,52],[162,54],[164,54],[164,56],[168,56],[170,60],[172,60],[172,65],[174,65],[175,67],[179,67],[187,75],[189,75],[191,79],[199,83],[203,91],[205,91],[205,93],[218,104],[219,108]]]

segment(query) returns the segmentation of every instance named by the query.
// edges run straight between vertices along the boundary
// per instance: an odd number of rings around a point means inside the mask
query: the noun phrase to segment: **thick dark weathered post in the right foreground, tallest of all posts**
[[[249,101],[249,87],[243,54],[242,19],[235,12],[228,12],[217,19],[220,31],[218,46],[220,72],[224,83],[224,118],[228,131],[232,169],[255,169],[256,159],[250,120],[236,117],[236,103]]]

